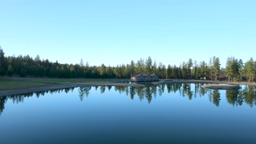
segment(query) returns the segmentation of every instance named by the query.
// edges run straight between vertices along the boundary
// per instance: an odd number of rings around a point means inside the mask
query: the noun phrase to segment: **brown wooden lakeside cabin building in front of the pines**
[[[131,76],[131,81],[140,82],[140,81],[158,81],[158,76],[155,74],[135,74]]]

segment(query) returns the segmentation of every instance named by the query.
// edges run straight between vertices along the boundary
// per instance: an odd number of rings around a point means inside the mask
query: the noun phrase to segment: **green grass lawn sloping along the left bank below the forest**
[[[61,85],[71,82],[121,81],[121,79],[50,79],[50,78],[5,78],[0,77],[0,91],[30,87]]]

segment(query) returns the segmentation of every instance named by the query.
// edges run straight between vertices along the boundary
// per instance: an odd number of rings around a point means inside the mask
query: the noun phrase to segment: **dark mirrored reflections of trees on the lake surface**
[[[210,102],[213,103],[216,106],[219,106],[220,103],[220,93],[219,90],[210,90],[201,88],[200,83],[192,84],[194,85],[194,91],[193,88],[191,89],[190,83],[176,83],[176,84],[168,84],[168,85],[159,85],[159,86],[150,86],[150,87],[143,87],[143,88],[135,88],[135,87],[122,87],[122,86],[115,86],[114,90],[121,93],[125,93],[127,96],[130,96],[131,99],[134,99],[136,96],[140,101],[143,99],[147,99],[148,103],[150,104],[152,101],[152,98],[156,98],[156,95],[161,96],[165,90],[167,89],[167,92],[170,93],[177,93],[179,92],[180,95],[183,97],[188,97],[189,100],[197,97],[199,95],[200,97],[203,95],[206,95],[208,93]],[[84,96],[88,97],[91,86],[89,87],[79,87],[79,98],[81,101],[83,101]],[[112,86],[95,86],[95,90],[100,89],[100,93],[104,93],[106,89],[110,91],[112,89]],[[35,93],[27,93],[27,94],[16,94],[16,95],[10,95],[6,97],[0,97],[0,115],[4,110],[4,104],[7,102],[8,99],[12,100],[13,103],[23,103],[25,98],[32,97],[33,95],[36,95],[37,98],[44,96],[46,93],[54,94],[54,93],[68,93],[70,91],[73,92],[74,88],[63,88],[63,89],[56,89],[56,90],[50,90],[50,91],[44,91],[44,92],[35,92]],[[243,89],[230,89],[226,90],[226,100],[229,104],[233,106],[241,106],[244,102],[248,104],[249,106],[253,107],[256,105],[256,86],[245,86]]]

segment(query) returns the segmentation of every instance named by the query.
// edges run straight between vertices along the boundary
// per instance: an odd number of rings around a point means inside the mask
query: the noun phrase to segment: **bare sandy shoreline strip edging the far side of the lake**
[[[175,84],[175,83],[209,83],[209,84],[229,84],[229,85],[253,85],[256,83],[246,83],[246,82],[226,82],[226,81],[200,81],[200,80],[168,80],[168,81],[158,81],[152,82],[153,85],[165,85],[165,84]],[[62,85],[55,86],[45,86],[45,87],[31,87],[26,89],[16,89],[10,91],[0,91],[0,97],[5,97],[7,95],[15,94],[26,94],[34,92],[43,92],[62,88],[72,88],[72,87],[86,87],[86,86],[123,86],[123,87],[144,87],[145,85],[138,83],[119,83],[119,82],[86,82],[86,83],[66,83]]]

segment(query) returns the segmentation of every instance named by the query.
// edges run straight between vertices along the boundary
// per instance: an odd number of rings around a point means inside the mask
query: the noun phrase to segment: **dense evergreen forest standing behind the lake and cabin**
[[[219,57],[213,56],[208,63],[205,61],[197,63],[189,58],[188,62],[180,65],[167,66],[161,62],[152,61],[149,56],[146,59],[140,58],[137,62],[120,64],[116,67],[89,65],[83,59],[79,64],[61,64],[50,62],[48,59],[40,59],[27,56],[4,56],[0,47],[0,75],[8,76],[33,76],[33,77],[60,77],[60,78],[118,78],[130,79],[133,74],[156,74],[159,79],[205,79],[231,81],[246,80],[253,82],[256,76],[256,61],[251,58],[243,63],[242,59],[228,57],[225,68],[220,68]]]

